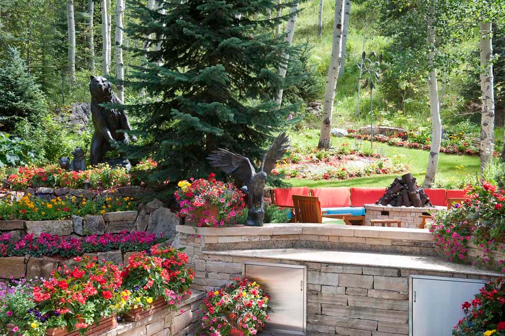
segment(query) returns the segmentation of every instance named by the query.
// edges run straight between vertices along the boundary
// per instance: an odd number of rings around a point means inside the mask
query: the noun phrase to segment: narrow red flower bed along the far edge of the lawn
[[[347,132],[347,137],[370,141],[370,134],[361,134],[355,129],[347,129]],[[377,134],[373,136],[373,141],[396,147],[415,148],[425,151],[430,150],[431,139],[429,136],[416,136],[414,138],[411,136],[410,133],[399,133],[389,136]],[[479,144],[474,140],[465,139],[464,137],[442,138],[440,152],[446,154],[479,155]]]

